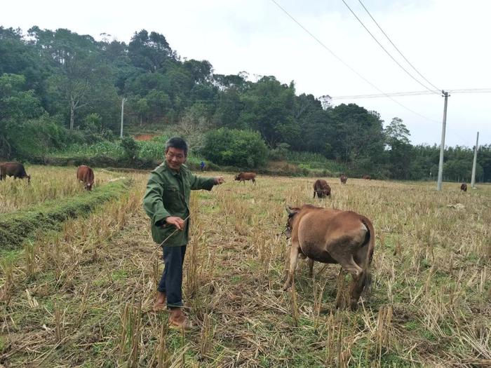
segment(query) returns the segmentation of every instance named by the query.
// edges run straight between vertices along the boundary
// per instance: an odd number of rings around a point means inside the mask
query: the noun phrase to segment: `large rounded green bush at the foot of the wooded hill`
[[[203,156],[218,165],[260,168],[267,163],[268,149],[259,132],[220,128],[206,134]]]

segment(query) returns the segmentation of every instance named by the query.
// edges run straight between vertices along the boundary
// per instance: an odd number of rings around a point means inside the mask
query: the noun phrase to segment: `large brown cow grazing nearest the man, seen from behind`
[[[302,205],[288,208],[285,235],[291,237],[292,245],[290,268],[283,289],[290,287],[301,254],[309,257],[311,263],[340,264],[353,278],[350,306],[356,309],[361,292],[370,283],[370,263],[375,247],[372,222],[352,211]]]

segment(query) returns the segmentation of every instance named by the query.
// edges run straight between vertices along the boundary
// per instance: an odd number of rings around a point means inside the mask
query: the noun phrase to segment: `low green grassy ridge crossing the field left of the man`
[[[0,250],[12,250],[35,231],[57,229],[69,217],[78,217],[109,199],[121,195],[128,181],[119,180],[64,200],[47,200],[39,205],[0,214]]]

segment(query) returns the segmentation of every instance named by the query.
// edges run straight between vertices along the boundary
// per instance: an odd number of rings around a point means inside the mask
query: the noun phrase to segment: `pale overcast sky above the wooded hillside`
[[[158,32],[182,58],[208,60],[217,74],[246,71],[251,81],[275,76],[294,81],[297,95],[330,95],[334,106],[356,103],[377,111],[384,125],[401,118],[413,144],[440,144],[444,98],[434,93],[438,88],[450,92],[445,145],[473,147],[476,132],[479,144],[491,144],[491,93],[458,93],[491,91],[491,1],[344,1],[407,72],[343,0],[4,0],[0,25],[24,32],[34,25],[67,28],[126,43],[141,29]],[[425,87],[433,93],[335,98]]]

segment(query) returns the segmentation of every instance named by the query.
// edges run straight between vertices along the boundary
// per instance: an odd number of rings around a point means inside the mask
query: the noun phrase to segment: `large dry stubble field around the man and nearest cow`
[[[210,175],[208,173],[208,175]],[[141,198],[103,205],[60,234],[1,260],[0,364],[8,367],[479,367],[491,362],[491,187],[231,175],[194,192],[184,295],[198,328],[169,330],[149,313],[161,273]],[[339,266],[301,261],[280,292],[288,245],[285,205],[318,203],[372,219],[370,295],[335,310]],[[455,206],[458,203],[464,207]],[[449,207],[448,205],[453,205]],[[339,292],[338,292],[339,284]]]

